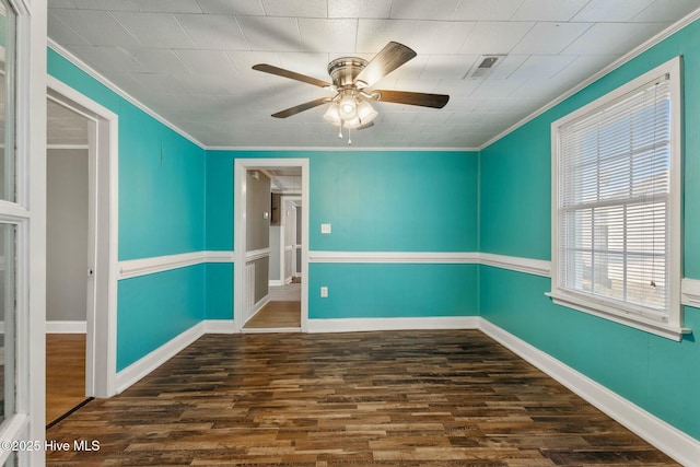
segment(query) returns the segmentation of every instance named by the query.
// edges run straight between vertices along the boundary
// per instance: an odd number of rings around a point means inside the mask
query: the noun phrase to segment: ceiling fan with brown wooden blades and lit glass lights
[[[328,63],[332,83],[306,74],[296,73],[272,65],[259,63],[254,70],[289,78],[332,91],[332,96],[319,97],[272,114],[287,118],[323,104],[330,104],[324,119],[341,128],[364,129],[373,126],[377,113],[371,101],[442,108],[450,100],[445,94],[427,94],[407,91],[370,90],[382,78],[416,57],[416,51],[402,44],[390,42],[372,60],[341,57]],[[339,135],[342,137],[342,133]]]

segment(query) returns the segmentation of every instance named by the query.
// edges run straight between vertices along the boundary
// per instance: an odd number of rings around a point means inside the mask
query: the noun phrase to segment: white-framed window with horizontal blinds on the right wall
[[[552,124],[555,303],[680,339],[680,60]]]

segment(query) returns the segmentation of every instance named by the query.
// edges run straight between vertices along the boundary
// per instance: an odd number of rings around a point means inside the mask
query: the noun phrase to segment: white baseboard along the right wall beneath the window
[[[700,441],[483,318],[479,329],[675,460],[686,466],[697,465]]]

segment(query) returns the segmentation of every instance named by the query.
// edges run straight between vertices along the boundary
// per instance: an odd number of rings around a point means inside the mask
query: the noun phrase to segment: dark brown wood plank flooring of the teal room
[[[670,466],[477,330],[207,335],[92,400],[48,465]]]

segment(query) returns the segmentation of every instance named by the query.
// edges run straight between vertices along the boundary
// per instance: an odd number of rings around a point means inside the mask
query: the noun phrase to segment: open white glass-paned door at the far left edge
[[[44,465],[46,0],[0,0],[0,463]],[[30,441],[31,440],[31,441]]]

